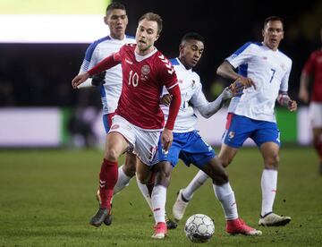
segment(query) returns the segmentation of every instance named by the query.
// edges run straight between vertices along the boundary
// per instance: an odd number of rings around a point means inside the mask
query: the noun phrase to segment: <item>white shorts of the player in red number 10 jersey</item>
[[[147,166],[157,164],[157,143],[161,130],[144,130],[122,116],[114,115],[109,132],[122,134],[143,164]]]

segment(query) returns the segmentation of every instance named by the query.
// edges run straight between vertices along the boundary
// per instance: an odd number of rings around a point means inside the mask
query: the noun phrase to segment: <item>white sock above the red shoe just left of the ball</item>
[[[163,185],[154,186],[152,191],[152,209],[153,216],[158,222],[165,222],[165,200],[166,200],[166,188]]]

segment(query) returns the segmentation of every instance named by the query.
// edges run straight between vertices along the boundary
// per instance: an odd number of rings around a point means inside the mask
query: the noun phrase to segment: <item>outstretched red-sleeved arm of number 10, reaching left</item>
[[[117,54],[118,53],[116,53],[116,55],[113,54],[113,55],[107,56],[104,60],[96,64],[88,72],[83,72],[75,76],[75,78],[72,79],[72,88],[76,89],[77,86],[79,86],[84,81],[88,80],[90,76],[93,76],[94,74],[97,74],[99,72],[104,72],[107,69],[112,68],[117,64],[120,64],[120,60],[115,58],[118,56]]]

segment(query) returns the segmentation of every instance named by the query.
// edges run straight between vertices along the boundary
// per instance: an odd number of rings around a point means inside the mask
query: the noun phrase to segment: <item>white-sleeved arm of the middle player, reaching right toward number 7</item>
[[[205,118],[209,118],[210,116],[215,115],[216,112],[225,105],[226,100],[233,98],[234,96],[242,95],[243,88],[244,87],[241,83],[233,81],[233,83],[229,87],[226,87],[216,100],[212,102],[208,102],[202,90],[199,89],[199,91],[196,91],[195,95],[191,98],[191,103],[192,105],[197,106],[200,115]],[[198,103],[193,103],[195,101],[198,101]]]

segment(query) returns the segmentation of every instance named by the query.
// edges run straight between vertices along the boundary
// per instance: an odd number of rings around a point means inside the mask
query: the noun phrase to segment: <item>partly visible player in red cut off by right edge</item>
[[[322,41],[322,28],[320,30]],[[309,81],[313,79],[309,103]],[[313,132],[313,145],[318,152],[319,175],[322,175],[322,47],[309,55],[301,72],[299,98],[309,103],[309,118]]]

